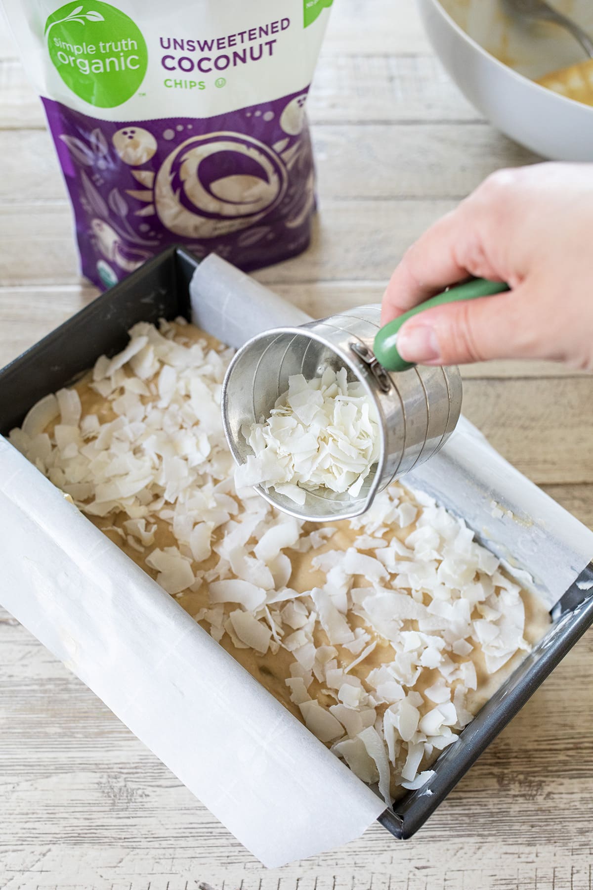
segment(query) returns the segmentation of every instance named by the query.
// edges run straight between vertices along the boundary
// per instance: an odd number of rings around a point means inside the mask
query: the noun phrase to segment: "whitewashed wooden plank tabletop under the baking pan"
[[[3,33],[0,364],[95,295],[77,276],[60,174],[15,56]],[[536,159],[449,83],[412,0],[337,0],[309,109],[314,243],[258,277],[313,314],[380,300],[426,225],[491,170]],[[468,416],[593,526],[591,378],[517,362],[465,376]],[[592,715],[589,634],[412,840],[375,825],[339,850],[265,870],[0,611],[0,887],[591,890]]]

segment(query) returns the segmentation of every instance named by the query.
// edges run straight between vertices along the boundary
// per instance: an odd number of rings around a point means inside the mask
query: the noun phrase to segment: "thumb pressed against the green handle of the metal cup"
[[[523,290],[519,286],[419,312],[397,334],[397,351],[406,361],[423,365],[539,357],[543,344],[533,330],[534,316]]]

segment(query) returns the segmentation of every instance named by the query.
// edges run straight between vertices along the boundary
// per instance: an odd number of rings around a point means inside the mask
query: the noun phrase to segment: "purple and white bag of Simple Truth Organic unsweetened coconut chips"
[[[244,270],[307,247],[305,102],[332,2],[4,0],[88,279],[171,243]]]

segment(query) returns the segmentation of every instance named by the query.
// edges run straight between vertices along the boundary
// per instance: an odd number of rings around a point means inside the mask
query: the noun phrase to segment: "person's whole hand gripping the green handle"
[[[405,253],[382,324],[470,276],[502,294],[420,312],[397,335],[407,361],[550,359],[593,370],[593,164],[538,164],[489,176]]]

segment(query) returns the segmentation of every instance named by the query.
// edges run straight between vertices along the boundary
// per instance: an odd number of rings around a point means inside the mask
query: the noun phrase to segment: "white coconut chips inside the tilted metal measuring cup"
[[[373,401],[346,368],[289,377],[270,416],[241,432],[253,454],[236,468],[237,487],[271,486],[300,505],[320,488],[356,498],[379,458]]]

